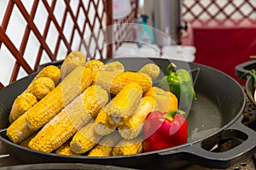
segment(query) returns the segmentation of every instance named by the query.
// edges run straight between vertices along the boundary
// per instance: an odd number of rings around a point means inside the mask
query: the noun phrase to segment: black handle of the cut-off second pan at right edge
[[[235,68],[236,77],[241,77],[243,73],[252,71],[255,68],[256,68],[256,60],[250,60],[245,63],[241,63],[240,65],[236,65],[236,68]]]

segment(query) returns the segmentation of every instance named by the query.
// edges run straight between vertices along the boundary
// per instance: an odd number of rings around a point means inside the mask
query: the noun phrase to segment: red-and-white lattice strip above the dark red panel
[[[236,26],[244,19],[255,22],[255,0],[183,0],[183,20],[231,20]]]

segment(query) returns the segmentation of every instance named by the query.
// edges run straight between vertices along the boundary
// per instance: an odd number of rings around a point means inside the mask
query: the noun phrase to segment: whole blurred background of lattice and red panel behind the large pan
[[[255,0],[3,0],[0,85],[72,50],[88,59],[138,54],[186,60],[237,80],[235,66],[256,55],[255,9]],[[106,26],[113,26],[108,48],[108,33],[91,36]]]

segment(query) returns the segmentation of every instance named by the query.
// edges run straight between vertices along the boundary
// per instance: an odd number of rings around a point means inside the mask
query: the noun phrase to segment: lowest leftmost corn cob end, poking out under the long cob
[[[21,115],[7,128],[6,134],[15,144],[20,144],[23,140],[27,139],[36,132],[27,126],[26,114],[27,112]]]

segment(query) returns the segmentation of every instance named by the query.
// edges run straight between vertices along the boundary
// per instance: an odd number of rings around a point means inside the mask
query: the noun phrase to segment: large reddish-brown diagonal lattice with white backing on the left
[[[36,71],[40,64],[64,59],[72,50],[81,50],[87,60],[112,57],[109,32],[92,32],[135,22],[137,0],[131,4],[129,17],[112,20],[112,0],[1,1],[0,89]],[[118,28],[113,32],[119,34]]]

